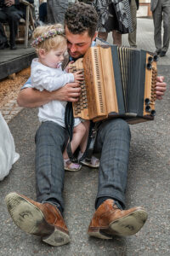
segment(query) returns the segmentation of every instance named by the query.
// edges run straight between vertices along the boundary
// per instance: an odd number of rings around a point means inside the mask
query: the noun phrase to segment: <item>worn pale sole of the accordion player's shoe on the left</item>
[[[8,212],[20,230],[31,235],[41,236],[42,241],[52,246],[62,246],[70,241],[70,237],[54,225],[48,224],[42,211],[17,193],[5,197]]]

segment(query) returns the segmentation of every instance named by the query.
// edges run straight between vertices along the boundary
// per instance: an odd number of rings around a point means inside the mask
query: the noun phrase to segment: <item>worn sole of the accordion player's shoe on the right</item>
[[[108,229],[91,229],[88,231],[89,236],[95,236],[102,239],[111,239],[115,236],[133,236],[144,225],[148,217],[147,212],[142,209],[136,210],[129,215],[119,218],[109,224]]]

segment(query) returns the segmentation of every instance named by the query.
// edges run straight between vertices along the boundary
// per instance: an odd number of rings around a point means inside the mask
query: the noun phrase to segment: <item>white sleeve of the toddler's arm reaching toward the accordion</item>
[[[60,73],[53,75],[49,70],[45,71],[41,67],[31,68],[31,84],[37,90],[58,90],[67,83],[74,82],[72,73]]]

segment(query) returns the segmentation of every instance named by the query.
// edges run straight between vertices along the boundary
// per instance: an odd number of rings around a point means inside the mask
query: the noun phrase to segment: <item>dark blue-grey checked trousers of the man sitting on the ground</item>
[[[99,127],[95,151],[101,152],[97,198],[109,196],[125,206],[130,130],[122,119],[111,119]],[[54,122],[44,122],[36,134],[37,201],[55,198],[64,208],[64,163],[62,152],[67,132]]]

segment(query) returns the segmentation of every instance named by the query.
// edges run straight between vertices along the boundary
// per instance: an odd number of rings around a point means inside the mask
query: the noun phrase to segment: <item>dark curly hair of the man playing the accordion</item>
[[[94,7],[86,3],[72,4],[65,13],[65,26],[73,34],[88,31],[90,38],[94,37],[98,23],[98,15]]]

